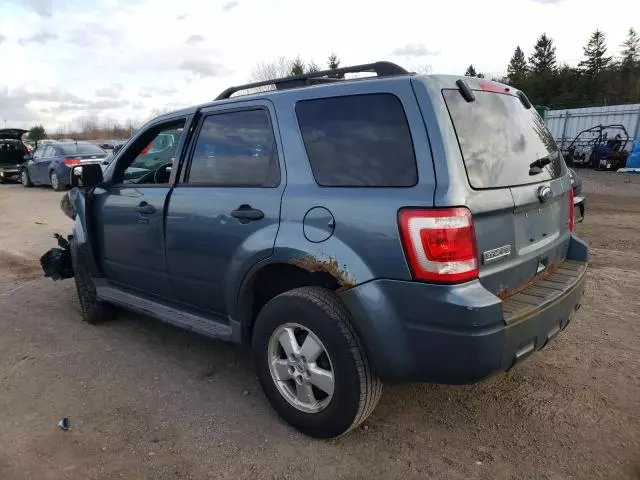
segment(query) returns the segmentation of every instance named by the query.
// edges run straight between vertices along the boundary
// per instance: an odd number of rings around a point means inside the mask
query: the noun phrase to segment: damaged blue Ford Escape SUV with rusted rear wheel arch
[[[354,72],[376,75],[335,78]],[[250,346],[275,410],[311,436],[363,422],[383,380],[510,369],[583,295],[567,167],[496,82],[379,62],[242,85],[71,182],[56,258],[84,319],[115,305]]]

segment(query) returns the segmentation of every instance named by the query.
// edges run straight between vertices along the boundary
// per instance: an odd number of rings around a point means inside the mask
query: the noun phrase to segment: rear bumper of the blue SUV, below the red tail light
[[[515,313],[519,294],[503,302],[479,281],[446,286],[377,280],[345,292],[343,300],[382,378],[473,383],[510,369],[566,328],[580,308],[586,257],[584,242],[572,237],[575,277],[553,298]]]

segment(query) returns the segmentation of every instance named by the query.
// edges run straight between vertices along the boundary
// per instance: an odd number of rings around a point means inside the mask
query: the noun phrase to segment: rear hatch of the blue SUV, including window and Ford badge
[[[524,95],[494,82],[466,92],[458,85],[442,96],[472,189],[479,279],[505,299],[566,258],[571,187],[555,140]]]

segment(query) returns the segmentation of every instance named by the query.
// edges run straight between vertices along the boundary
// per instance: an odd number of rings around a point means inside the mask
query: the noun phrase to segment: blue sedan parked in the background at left
[[[51,185],[56,191],[69,187],[70,168],[75,165],[100,164],[107,153],[89,142],[56,142],[38,146],[22,165],[20,180],[25,187]]]

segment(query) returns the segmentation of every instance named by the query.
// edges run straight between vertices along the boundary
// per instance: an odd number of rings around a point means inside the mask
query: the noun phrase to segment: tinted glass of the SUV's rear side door
[[[206,117],[196,140],[189,184],[220,187],[277,187],[280,167],[266,110]]]

